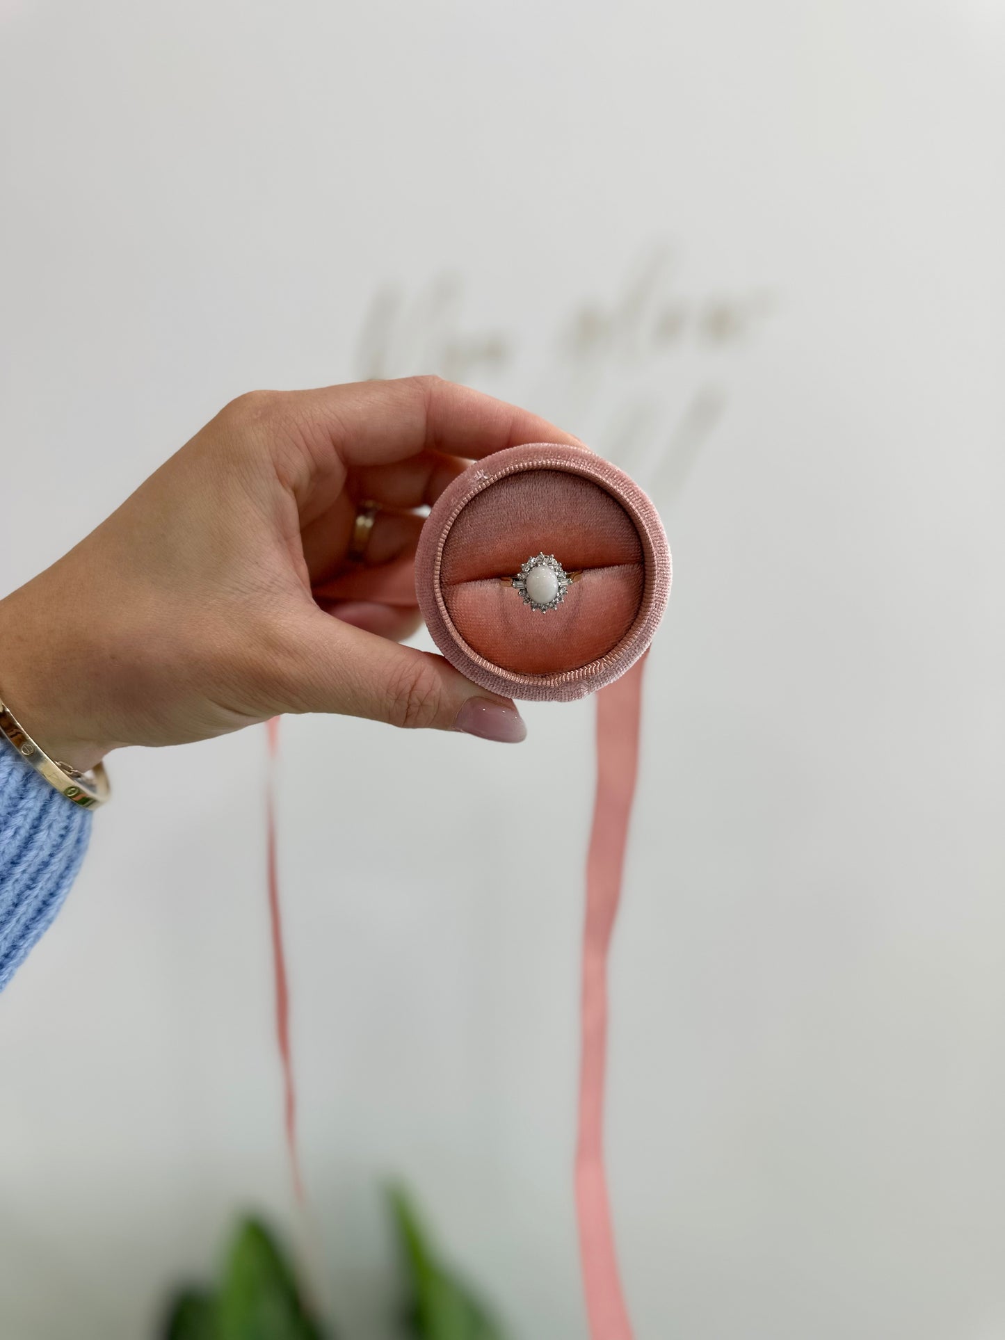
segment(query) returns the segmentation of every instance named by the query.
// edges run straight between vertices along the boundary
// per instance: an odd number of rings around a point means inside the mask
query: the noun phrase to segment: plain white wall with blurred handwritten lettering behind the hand
[[[0,587],[255,386],[445,371],[635,472],[675,559],[612,967],[638,1336],[1005,1336],[1000,0],[0,15]],[[584,1333],[592,714],[527,716],[284,725],[352,1340],[398,1172],[515,1336]],[[4,1340],[151,1335],[237,1207],[292,1222],[263,733],[110,770],[0,1001]],[[540,784],[548,847],[498,823]]]

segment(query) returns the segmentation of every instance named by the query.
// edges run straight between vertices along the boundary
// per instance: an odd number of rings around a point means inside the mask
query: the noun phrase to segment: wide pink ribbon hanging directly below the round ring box
[[[624,850],[638,776],[643,663],[645,657],[596,695],[596,799],[587,855],[576,1143],[579,1252],[592,1340],[631,1340],[631,1321],[618,1272],[607,1195],[603,1110],[607,958],[620,902]]]

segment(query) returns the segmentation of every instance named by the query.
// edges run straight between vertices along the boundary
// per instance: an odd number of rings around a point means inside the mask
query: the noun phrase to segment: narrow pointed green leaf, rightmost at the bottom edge
[[[415,1340],[503,1340],[476,1294],[437,1260],[407,1193],[391,1187],[390,1201],[409,1268],[409,1323]]]

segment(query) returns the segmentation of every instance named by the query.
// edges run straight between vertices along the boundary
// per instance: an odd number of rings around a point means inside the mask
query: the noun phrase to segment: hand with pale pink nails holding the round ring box
[[[284,712],[523,740],[509,699],[391,641],[414,631],[417,608],[340,596],[359,500],[381,504],[367,565],[410,570],[413,509],[465,458],[533,441],[580,445],[438,378],[243,395],[0,600],[0,694],[82,770],[122,745],[205,740]]]

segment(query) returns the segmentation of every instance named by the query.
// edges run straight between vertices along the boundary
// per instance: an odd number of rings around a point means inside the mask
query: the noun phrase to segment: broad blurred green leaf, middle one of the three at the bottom
[[[239,1226],[220,1294],[218,1340],[322,1340],[292,1266],[257,1219]]]

